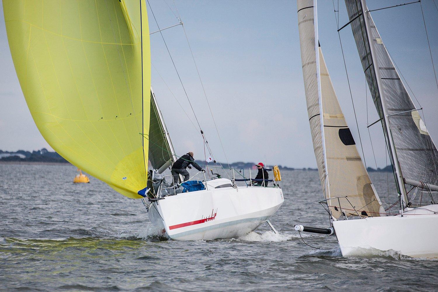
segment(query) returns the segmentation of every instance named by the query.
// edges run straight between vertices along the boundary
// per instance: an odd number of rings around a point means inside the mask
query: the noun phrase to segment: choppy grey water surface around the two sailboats
[[[71,165],[0,164],[0,290],[6,291],[424,291],[436,290],[438,261],[364,250],[341,256],[328,226],[318,172],[283,171],[285,202],[239,239],[179,242],[157,236],[141,201],[91,178],[73,184]],[[385,195],[386,174],[371,173]],[[380,179],[380,181],[379,181]]]

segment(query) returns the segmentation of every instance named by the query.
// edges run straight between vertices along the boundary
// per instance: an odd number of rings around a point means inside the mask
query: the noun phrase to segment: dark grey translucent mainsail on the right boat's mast
[[[438,185],[438,151],[426,126],[413,105],[397,73],[389,53],[374,25],[368,8],[362,7],[360,0],[345,0],[348,15],[356,41],[357,50],[364,68],[365,77],[371,91],[374,105],[380,117],[388,116],[390,133],[401,168],[400,176],[405,181],[425,182]],[[371,41],[374,44],[378,64],[374,66],[371,58],[370,43],[365,28],[367,17],[371,27]],[[379,96],[376,70],[382,84]],[[381,99],[386,103],[382,108]],[[382,120],[382,123],[384,121]],[[385,130],[385,127],[384,127]],[[386,134],[385,130],[385,134]]]

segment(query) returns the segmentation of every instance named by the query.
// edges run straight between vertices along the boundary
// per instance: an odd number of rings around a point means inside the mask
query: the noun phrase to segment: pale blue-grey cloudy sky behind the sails
[[[173,11],[166,5],[170,5]],[[150,0],[160,28],[177,24],[171,0]],[[291,167],[316,167],[301,71],[295,1],[175,0],[230,162],[253,161]],[[334,1],[337,6],[337,0]],[[405,3],[368,0],[375,9]],[[435,0],[435,2],[438,1]],[[438,70],[438,10],[423,0],[432,56]],[[157,26],[148,7],[150,30]],[[0,7],[0,149],[49,148],[33,123],[15,74]],[[339,1],[340,21],[347,20]],[[438,90],[427,46],[420,4],[374,11],[374,22],[421,106],[432,138],[438,141]],[[359,143],[331,0],[318,2],[319,39],[339,102]],[[225,157],[181,26],[163,32],[198,120],[216,159]],[[350,27],[341,31],[347,70],[367,166],[375,167],[368,136],[368,91]],[[203,143],[190,119],[193,113],[159,34],[151,35],[152,86],[178,155],[193,150],[203,158]],[[156,68],[156,70],[155,70]],[[162,78],[161,78],[161,77]],[[183,109],[173,98],[171,89]],[[368,95],[368,119],[377,120]],[[377,165],[386,163],[381,127],[371,128]]]

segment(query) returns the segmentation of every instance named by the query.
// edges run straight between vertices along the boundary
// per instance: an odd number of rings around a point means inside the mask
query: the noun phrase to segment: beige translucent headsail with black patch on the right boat
[[[298,0],[297,4],[309,123],[320,177],[321,174],[326,175],[321,177],[321,186],[326,199],[344,196],[348,198],[329,200],[330,211],[334,218],[342,215],[341,208],[347,215],[358,215],[355,211],[357,210],[360,216],[380,216],[381,203],[339,106],[320,46],[318,58],[315,53],[317,31],[314,26],[313,0]]]

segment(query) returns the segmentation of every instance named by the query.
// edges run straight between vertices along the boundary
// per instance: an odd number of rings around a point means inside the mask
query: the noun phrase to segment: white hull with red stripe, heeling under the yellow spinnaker
[[[171,239],[237,238],[257,229],[283,201],[280,188],[225,187],[164,197],[148,215]]]

